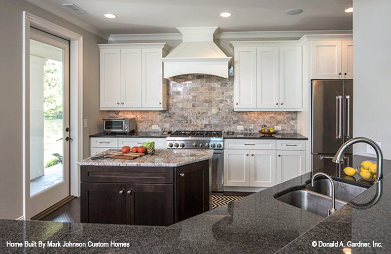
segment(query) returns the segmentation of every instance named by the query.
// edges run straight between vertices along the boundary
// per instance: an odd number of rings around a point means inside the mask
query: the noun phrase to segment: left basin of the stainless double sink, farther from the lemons
[[[284,203],[299,207],[303,210],[316,213],[323,217],[328,216],[328,209],[331,208],[331,198],[307,189],[294,190],[276,198]],[[335,200],[335,208],[338,210],[347,202]]]

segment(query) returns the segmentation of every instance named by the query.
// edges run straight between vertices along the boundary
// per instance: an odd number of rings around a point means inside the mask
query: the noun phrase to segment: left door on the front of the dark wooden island
[[[82,182],[81,194],[82,223],[126,223],[125,184]]]

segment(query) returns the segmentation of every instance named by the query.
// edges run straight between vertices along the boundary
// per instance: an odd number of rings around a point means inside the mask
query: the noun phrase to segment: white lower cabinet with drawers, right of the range
[[[270,143],[268,149],[261,141]],[[224,186],[270,187],[304,174],[305,144],[304,140],[225,140]],[[245,149],[250,145],[256,149]]]

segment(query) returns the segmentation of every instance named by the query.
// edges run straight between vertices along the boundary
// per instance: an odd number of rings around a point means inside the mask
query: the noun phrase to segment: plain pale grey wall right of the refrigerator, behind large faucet
[[[391,159],[391,3],[353,0],[353,134],[381,142]],[[366,145],[354,153],[367,155]]]

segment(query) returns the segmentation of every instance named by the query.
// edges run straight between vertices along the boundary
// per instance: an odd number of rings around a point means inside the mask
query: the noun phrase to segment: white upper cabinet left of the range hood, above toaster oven
[[[166,110],[165,43],[99,44],[100,110]]]

